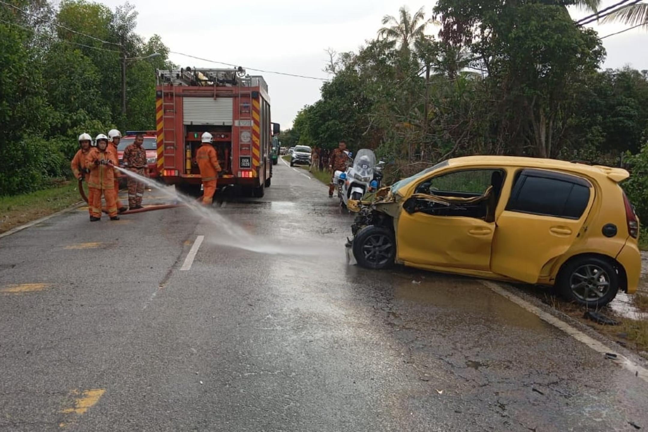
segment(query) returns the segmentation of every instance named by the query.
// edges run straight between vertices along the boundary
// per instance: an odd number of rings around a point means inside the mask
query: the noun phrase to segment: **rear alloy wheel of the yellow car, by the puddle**
[[[616,269],[597,256],[581,256],[567,262],[557,282],[562,297],[588,308],[605,306],[619,291]]]

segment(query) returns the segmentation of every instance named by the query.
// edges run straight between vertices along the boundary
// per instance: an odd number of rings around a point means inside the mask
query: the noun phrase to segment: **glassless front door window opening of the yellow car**
[[[481,195],[492,185],[493,173],[502,170],[461,170],[433,177],[416,188],[417,193],[432,194],[435,192],[458,192],[460,194]]]

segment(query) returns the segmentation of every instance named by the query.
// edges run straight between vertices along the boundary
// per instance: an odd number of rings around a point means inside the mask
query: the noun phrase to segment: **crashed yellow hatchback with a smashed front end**
[[[553,159],[450,159],[351,203],[353,255],[371,269],[556,285],[569,301],[603,306],[640,277],[639,220],[619,186],[627,177]]]

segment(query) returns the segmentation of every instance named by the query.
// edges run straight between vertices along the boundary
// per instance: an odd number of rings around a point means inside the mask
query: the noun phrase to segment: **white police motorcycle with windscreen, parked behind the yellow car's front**
[[[347,153],[349,163],[347,170],[334,172],[334,181],[338,185],[338,196],[341,207],[347,207],[349,199],[360,200],[367,192],[380,188],[384,162],[376,164],[376,155],[372,150],[359,150],[351,163],[352,153]]]

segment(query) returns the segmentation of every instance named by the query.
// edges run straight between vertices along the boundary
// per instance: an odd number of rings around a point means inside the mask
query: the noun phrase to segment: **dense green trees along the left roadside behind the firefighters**
[[[82,132],[154,128],[155,69],[172,66],[159,36],[145,41],[135,33],[137,12],[129,3],[113,12],[100,3],[64,0],[54,13],[44,0],[9,1],[43,19],[0,8],[0,18],[15,24],[0,23],[0,196],[69,176]],[[111,43],[53,26],[52,15],[67,28]],[[154,52],[161,55],[128,62],[124,116],[122,55]]]

